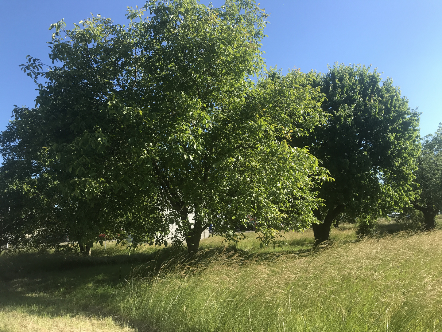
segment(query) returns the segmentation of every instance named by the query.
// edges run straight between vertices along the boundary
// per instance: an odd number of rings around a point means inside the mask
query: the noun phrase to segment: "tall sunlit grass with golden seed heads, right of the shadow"
[[[133,278],[118,303],[146,330],[437,331],[441,266],[441,232],[265,260],[224,253]]]

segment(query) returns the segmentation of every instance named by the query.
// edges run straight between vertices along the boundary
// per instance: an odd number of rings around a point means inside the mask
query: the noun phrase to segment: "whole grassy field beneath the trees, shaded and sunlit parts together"
[[[400,226],[381,224],[380,231]],[[0,331],[442,331],[442,231],[0,255]]]

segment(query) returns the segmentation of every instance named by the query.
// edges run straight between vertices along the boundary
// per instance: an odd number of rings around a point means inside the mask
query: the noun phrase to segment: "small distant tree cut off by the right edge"
[[[424,137],[417,161],[419,165],[414,174],[419,197],[413,207],[423,213],[423,227],[431,229],[442,208],[442,123],[434,135]]]

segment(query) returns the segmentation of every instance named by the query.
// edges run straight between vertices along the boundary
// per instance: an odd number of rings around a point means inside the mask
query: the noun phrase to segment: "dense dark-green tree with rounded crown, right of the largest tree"
[[[335,179],[316,189],[324,200],[314,210],[318,224],[313,224],[316,243],[321,243],[341,213],[368,222],[410,205],[419,113],[409,108],[390,78],[381,81],[370,67],[335,65],[317,75],[316,82],[330,116],[293,142],[309,146]]]

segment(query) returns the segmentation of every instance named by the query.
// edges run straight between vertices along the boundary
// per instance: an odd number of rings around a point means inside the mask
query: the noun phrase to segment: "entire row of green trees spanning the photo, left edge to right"
[[[266,69],[252,0],[148,1],[126,16],[52,24],[52,65],[22,65],[38,96],[0,134],[0,246],[67,236],[90,254],[99,234],[164,243],[176,224],[169,240],[192,254],[209,224],[238,240],[250,216],[263,244],[309,227],[321,243],[344,214],[411,207],[434,228],[442,126],[421,152],[419,112],[391,78]]]

